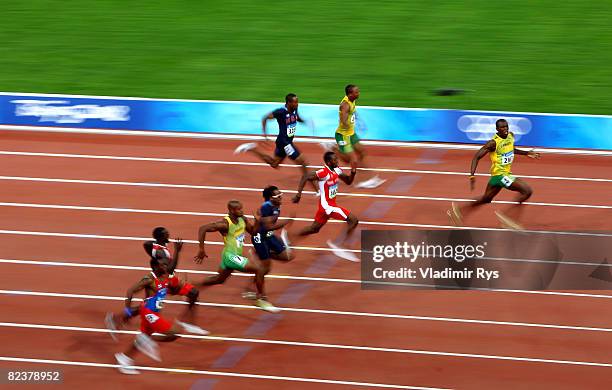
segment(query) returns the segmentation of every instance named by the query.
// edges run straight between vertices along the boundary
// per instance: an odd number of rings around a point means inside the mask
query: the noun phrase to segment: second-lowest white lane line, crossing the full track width
[[[53,326],[53,325],[45,326],[45,325],[37,325],[37,324],[17,324],[17,323],[0,323],[0,326],[21,327],[21,328],[30,328],[30,329],[49,329],[49,330],[67,330],[67,331],[108,333],[107,329],[81,328],[81,327],[76,327],[76,326],[75,327]],[[136,331],[122,331],[118,333],[138,334],[138,332]],[[612,363],[528,358],[528,357],[522,357],[522,356],[483,355],[483,354],[472,354],[472,353],[427,351],[427,350],[420,350],[420,349],[379,348],[379,347],[364,347],[364,346],[356,346],[356,345],[304,343],[304,342],[295,342],[295,341],[245,339],[245,338],[232,338],[232,337],[195,336],[195,335],[185,335],[184,337],[194,338],[194,339],[204,339],[204,340],[221,340],[221,341],[229,341],[229,342],[245,342],[245,343],[261,343],[261,344],[280,344],[280,345],[314,347],[314,348],[348,349],[348,350],[373,351],[373,352],[392,352],[392,353],[429,355],[429,356],[452,356],[452,357],[460,357],[460,358],[510,360],[510,361],[530,362],[530,363],[533,362],[533,363],[549,363],[549,364],[567,364],[567,365],[575,365],[575,366],[612,367]],[[389,385],[389,386],[392,386],[392,385]]]

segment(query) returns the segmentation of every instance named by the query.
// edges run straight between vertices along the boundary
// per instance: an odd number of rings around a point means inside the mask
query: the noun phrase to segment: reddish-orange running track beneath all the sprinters
[[[234,156],[236,141],[28,132],[0,132],[0,136],[0,152],[256,161],[251,156]],[[319,164],[318,146],[300,147],[312,164]],[[419,171],[465,172],[472,156],[472,152],[441,149],[372,147],[369,151],[372,166]],[[200,224],[220,218],[197,213],[222,214],[230,198],[238,198],[246,210],[254,210],[261,202],[259,189],[276,184],[286,192],[294,190],[299,170],[23,154],[0,154],[0,158],[0,244],[4,249],[0,356],[68,363],[0,361],[2,368],[62,368],[64,386],[70,388],[154,388],[163,383],[178,389],[314,389],[360,384],[575,389],[612,384],[608,354],[612,319],[601,315],[608,311],[612,296],[362,291],[357,283],[359,265],[325,250],[325,241],[342,229],[337,223],[300,244],[314,250],[298,250],[294,262],[274,264],[273,274],[282,278],[268,278],[267,288],[271,300],[285,309],[281,314],[252,309],[240,298],[246,278],[236,276],[224,286],[202,290],[200,295],[204,305],[198,308],[198,323],[222,339],[178,340],[162,346],[163,362],[152,363],[144,357],[137,361],[165,371],[128,377],[112,367],[94,367],[114,364],[113,354],[133,337],[122,335],[120,343],[114,343],[102,320],[107,311],[121,308],[124,291],[145,272],[130,268],[146,267],[140,237],[147,237],[153,226],[164,225],[173,236],[195,240]],[[536,230],[610,231],[609,166],[609,157],[594,156],[545,154],[537,162],[516,161],[517,175],[607,179],[526,179],[535,191],[530,201],[540,204],[525,206],[524,224]],[[480,168],[486,172],[487,163],[482,161]],[[447,199],[475,196],[468,190],[465,175],[382,175],[387,183],[375,190],[341,188],[348,193],[341,195],[341,204],[362,221],[374,222],[362,224],[364,229],[388,228],[389,222],[447,226]],[[61,181],[66,179],[105,183]],[[484,183],[485,179],[479,178],[478,191]],[[297,207],[289,204],[288,198],[284,215],[312,218],[314,197],[304,197]],[[512,196],[504,193],[500,199],[511,200]],[[508,205],[484,207],[467,223],[498,227],[493,210],[505,207]],[[294,228],[306,223],[295,222]],[[78,234],[112,237],[74,236]],[[220,237],[209,240],[220,241]],[[220,246],[210,246],[210,259],[203,266],[191,262],[195,250],[194,244],[186,245],[180,267],[189,280],[216,269]],[[40,295],[33,295],[36,292]],[[168,316],[180,309],[179,305],[168,305]],[[75,362],[89,365],[76,366]],[[173,371],[177,369],[194,371]],[[250,374],[267,377],[245,377]],[[325,384],[322,380],[338,382]]]

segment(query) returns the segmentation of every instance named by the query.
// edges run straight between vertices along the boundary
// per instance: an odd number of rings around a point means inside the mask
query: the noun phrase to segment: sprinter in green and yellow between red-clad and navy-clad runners
[[[256,235],[259,227],[257,219],[255,223],[244,217],[242,211],[242,203],[237,200],[230,200],[227,203],[228,215],[222,220],[211,222],[200,226],[198,230],[198,240],[200,241],[200,249],[195,256],[194,261],[201,264],[204,258],[208,257],[205,249],[206,233],[219,232],[223,236],[223,251],[221,252],[221,264],[217,275],[209,276],[204,279],[200,286],[212,286],[214,284],[223,284],[232,272],[240,271],[255,274],[255,286],[257,288],[256,305],[272,313],[278,313],[280,310],[274,307],[267,301],[264,276],[265,269],[255,258],[248,258],[242,253],[244,238],[246,233]]]

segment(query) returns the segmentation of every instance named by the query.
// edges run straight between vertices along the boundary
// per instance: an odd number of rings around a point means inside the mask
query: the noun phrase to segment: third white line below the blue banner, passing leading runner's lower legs
[[[32,181],[45,183],[71,183],[71,184],[94,184],[94,185],[114,185],[128,187],[157,187],[157,188],[186,188],[197,190],[214,190],[214,191],[243,191],[243,192],[261,192],[260,188],[249,187],[226,187],[226,186],[204,186],[195,184],[168,184],[168,183],[146,183],[146,182],[130,182],[130,181],[109,181],[109,180],[81,180],[81,179],[58,179],[46,177],[25,177],[25,176],[0,176],[0,180],[7,181]],[[294,190],[283,190],[288,194],[295,194]],[[314,195],[313,191],[303,191],[304,194]],[[409,196],[409,195],[382,195],[382,194],[360,194],[352,192],[343,192],[342,196],[358,197],[358,198],[384,198],[384,199],[404,199],[404,200],[425,200],[425,201],[442,201],[442,202],[473,202],[474,199],[464,198],[442,198],[430,196]],[[494,200],[497,204],[517,204],[514,201]],[[552,206],[552,207],[573,207],[573,208],[590,208],[590,209],[612,209],[610,205],[591,205],[591,204],[573,204],[573,203],[544,203],[544,202],[524,202],[530,206]]]

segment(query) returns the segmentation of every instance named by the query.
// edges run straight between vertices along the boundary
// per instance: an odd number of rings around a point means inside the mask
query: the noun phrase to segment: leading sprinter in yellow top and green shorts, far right
[[[527,183],[512,176],[511,167],[515,154],[528,156],[535,159],[539,159],[540,154],[533,151],[516,149],[514,147],[514,134],[509,131],[508,121],[505,119],[498,119],[495,122],[495,128],[497,130],[497,134],[495,134],[492,140],[487,142],[482,148],[480,148],[480,150],[478,150],[478,152],[476,152],[476,155],[472,159],[472,167],[470,170],[470,190],[473,191],[474,184],[476,182],[476,176],[474,176],[474,173],[476,172],[478,161],[480,161],[480,159],[487,153],[489,154],[489,157],[491,158],[491,178],[487,184],[487,189],[485,190],[484,195],[476,199],[475,202],[463,207],[459,207],[453,202],[452,208],[447,212],[447,214],[455,225],[462,224],[462,214],[467,214],[469,211],[473,211],[483,204],[491,203],[493,198],[499,194],[502,188],[519,192],[519,196],[516,199],[518,205],[521,205],[524,201],[529,199],[533,192]],[[513,212],[513,215],[511,216],[502,214],[499,211],[496,211],[495,214],[504,227],[522,229],[522,227],[515,222],[515,219],[517,219],[519,216],[521,208],[516,208],[514,206],[516,205],[513,205],[511,210],[508,212],[508,214]]]

